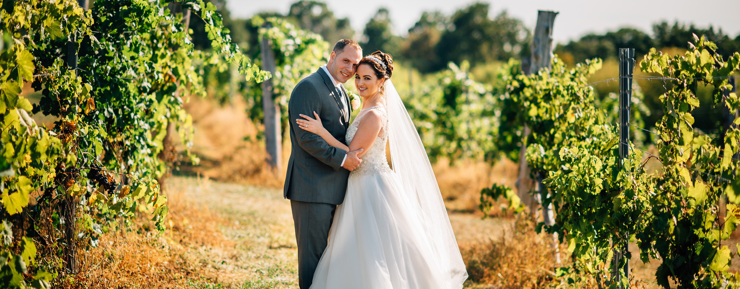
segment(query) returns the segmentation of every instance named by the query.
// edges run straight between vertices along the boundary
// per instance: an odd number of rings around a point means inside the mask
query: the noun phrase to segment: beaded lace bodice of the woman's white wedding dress
[[[383,136],[377,137],[375,142],[372,144],[368,152],[363,154],[363,162],[357,169],[349,173],[349,177],[360,177],[368,174],[380,174],[383,171],[391,171],[391,167],[388,166],[388,159],[386,158],[386,143],[388,143],[388,114],[386,108],[383,106],[373,106],[367,109],[368,112],[371,109],[375,109],[380,113],[380,121],[383,122]],[[362,111],[360,111],[362,112]],[[357,115],[357,118],[349,125],[346,134],[347,143],[352,142],[354,134],[357,133],[357,126],[360,125],[360,120],[367,114],[367,112]]]

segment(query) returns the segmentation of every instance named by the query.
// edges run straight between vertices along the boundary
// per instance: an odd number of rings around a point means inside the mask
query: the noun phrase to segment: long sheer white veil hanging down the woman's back
[[[465,263],[462,262],[460,248],[457,247],[440,187],[437,186],[437,178],[431,170],[429,157],[416,126],[390,80],[386,81],[386,102],[391,166],[400,177],[404,191],[420,204],[425,232],[432,249],[440,258],[440,265],[450,274],[449,285],[462,288],[468,272],[465,271]]]

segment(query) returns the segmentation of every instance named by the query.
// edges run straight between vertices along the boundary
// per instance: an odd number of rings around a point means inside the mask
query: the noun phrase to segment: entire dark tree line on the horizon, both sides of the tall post
[[[259,58],[259,27],[251,18],[232,18],[226,0],[211,0],[223,16],[224,27],[230,30],[232,41],[252,58]],[[399,61],[411,64],[423,73],[446,69],[449,62],[462,61],[471,66],[491,61],[508,61],[531,54],[531,30],[519,18],[505,10],[489,16],[491,6],[473,3],[451,15],[440,11],[425,11],[406,36],[397,35],[391,21],[392,11],[385,7],[377,10],[362,31],[355,31],[349,18],[338,18],[322,1],[302,0],[291,4],[288,13],[262,12],[260,18],[277,17],[296,27],[309,30],[323,37],[330,44],[342,38],[353,38],[367,51],[383,50]],[[204,23],[193,19],[195,48],[208,49],[209,39],[203,30]],[[673,24],[662,21],[653,24],[652,33],[633,27],[623,27],[606,33],[589,33],[567,44],[558,44],[554,50],[567,64],[576,64],[591,58],[616,57],[619,48],[634,48],[636,55],[645,55],[651,47],[685,48],[693,34],[704,35],[721,47],[720,55],[730,55],[740,50],[740,34],[734,38],[721,28],[696,27],[679,21]]]

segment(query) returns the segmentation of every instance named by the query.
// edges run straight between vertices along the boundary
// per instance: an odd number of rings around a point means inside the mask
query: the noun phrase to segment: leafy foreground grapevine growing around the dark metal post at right
[[[645,171],[646,153],[635,143],[628,143],[633,149],[619,159],[619,132],[609,116],[613,110],[594,104],[586,82],[599,69],[598,60],[567,69],[553,58],[552,69],[508,81],[510,103],[516,103],[532,129],[527,162],[534,174],[544,176],[545,190],[533,194],[541,194],[543,205],[553,204],[556,211],[555,224],[540,223],[539,228],[558,233],[573,256],[573,265],[559,268],[558,276],[570,276],[569,282],[591,276],[599,287],[625,286],[627,278],[616,284],[611,277],[613,268],[626,262],[622,258],[614,266],[614,252],[636,242],[643,262],[661,262],[656,281],[665,288],[670,288],[669,279],[679,288],[738,285],[736,275],[727,272],[738,252],[723,241],[740,224],[740,181],[734,177],[740,166],[733,160],[740,130],[731,127],[720,142],[691,127],[699,84],[713,87],[715,105],[740,109],[736,94],[723,94],[731,88],[727,78],[739,69],[740,54],[723,59],[716,50],[695,36],[684,55],[653,49],[640,63],[643,72],[671,83],[660,97],[665,115],[656,123],[659,152],[648,155],[661,161],[657,173]],[[718,217],[723,193],[730,199],[724,220]],[[517,204],[511,189],[492,186],[482,191],[481,208],[490,208],[488,198],[499,196]]]

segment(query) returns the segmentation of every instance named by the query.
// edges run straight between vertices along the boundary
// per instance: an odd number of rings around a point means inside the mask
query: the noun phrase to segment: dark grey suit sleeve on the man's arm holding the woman
[[[290,96],[288,103],[288,112],[290,116],[290,125],[295,132],[298,146],[306,150],[313,157],[316,157],[322,163],[331,166],[335,171],[342,168],[342,161],[347,152],[343,149],[329,146],[326,140],[312,132],[307,132],[295,122],[302,119],[301,114],[313,117],[313,112],[321,115],[321,98],[314,84],[310,81],[302,81],[298,84]]]

